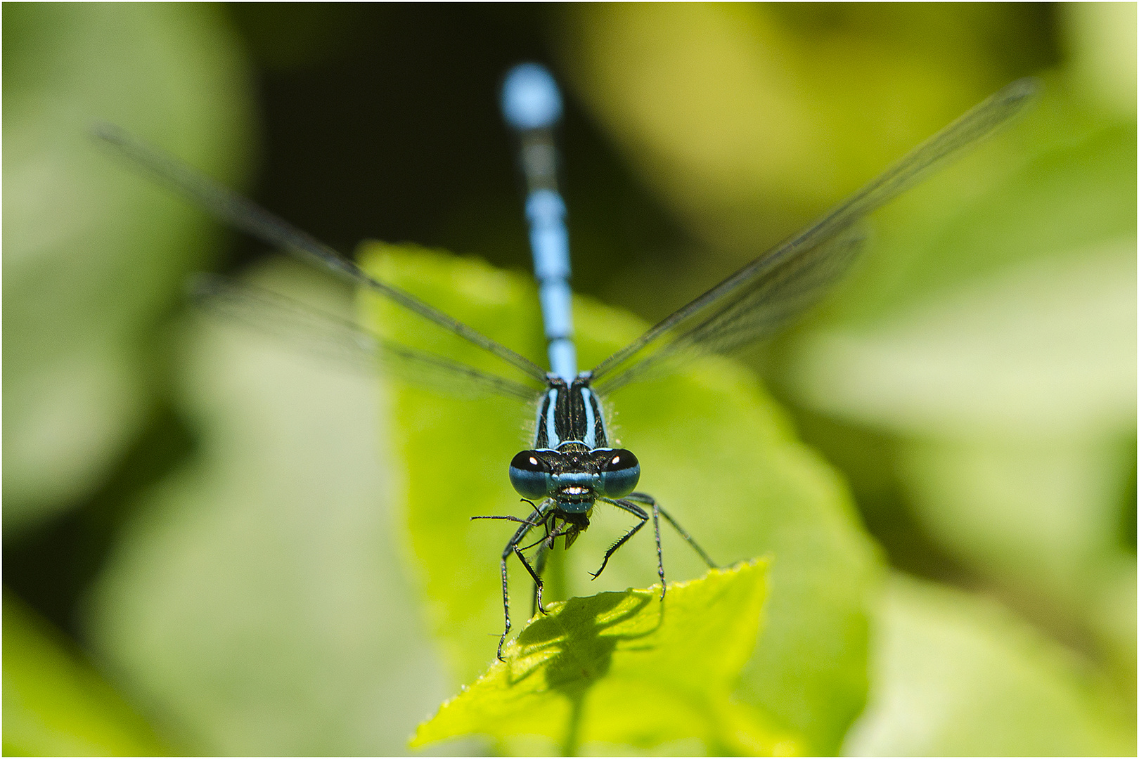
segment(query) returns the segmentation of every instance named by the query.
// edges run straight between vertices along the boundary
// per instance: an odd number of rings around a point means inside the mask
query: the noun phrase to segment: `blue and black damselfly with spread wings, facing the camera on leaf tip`
[[[214,183],[177,159],[150,148],[122,130],[100,125],[97,137],[204,206],[219,218],[316,263],[398,306],[418,314],[435,329],[462,338],[498,357],[521,379],[489,372],[460,362],[382,339],[350,323],[335,323],[306,314],[303,308],[273,294],[254,291],[219,278],[199,282],[199,291],[214,304],[238,314],[251,313],[251,304],[288,330],[297,320],[325,329],[329,343],[346,349],[364,348],[390,366],[408,371],[417,380],[458,380],[482,391],[538,402],[532,447],[509,462],[511,485],[532,511],[516,515],[473,517],[517,522],[518,527],[500,558],[502,605],[506,619],[498,655],[510,632],[507,562],[516,556],[534,581],[535,607],[542,604],[542,571],[557,538],[568,548],[590,523],[593,508],[605,503],[637,517],[601,559],[600,575],[613,553],[652,519],[656,539],[661,599],[666,592],[661,551],[663,517],[710,566],[714,562],[689,534],[646,493],[636,490],[640,479],[637,456],[609,446],[600,395],[638,379],[658,374],[705,353],[730,353],[771,336],[819,300],[851,266],[862,242],[858,222],[869,212],[911,187],[931,171],[975,145],[1023,109],[1036,85],[1014,82],[980,104],[944,130],[918,146],[853,196],[819,217],[804,231],[755,258],[723,282],[673,312],[641,337],[589,371],[579,371],[573,341],[570,288],[570,244],[566,207],[558,189],[558,152],[555,126],[562,115],[562,96],[552,76],[541,66],[514,68],[502,91],[503,114],[519,143],[519,162],[526,182],[525,213],[538,281],[549,371],[452,319],[437,308],[382,282],[352,259],[295,229],[252,201]],[[450,378],[450,379],[445,379]],[[526,543],[534,530],[541,537]],[[527,559],[524,551],[536,546]],[[532,563],[533,562],[533,563]]]

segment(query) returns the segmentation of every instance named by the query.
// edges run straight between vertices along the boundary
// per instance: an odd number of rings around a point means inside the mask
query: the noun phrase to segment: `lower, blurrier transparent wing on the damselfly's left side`
[[[190,284],[197,305],[281,338],[306,353],[354,369],[385,373],[420,387],[473,397],[500,395],[531,402],[544,386],[527,386],[425,350],[386,340],[358,324],[287,296],[216,274]]]

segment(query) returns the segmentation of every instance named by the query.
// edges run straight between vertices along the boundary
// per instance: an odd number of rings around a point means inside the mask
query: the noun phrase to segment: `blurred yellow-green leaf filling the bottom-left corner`
[[[6,591],[5,756],[154,756],[150,728],[64,637]]]

